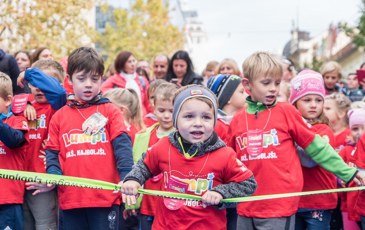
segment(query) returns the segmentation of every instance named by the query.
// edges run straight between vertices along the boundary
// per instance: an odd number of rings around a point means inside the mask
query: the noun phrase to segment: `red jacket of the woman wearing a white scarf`
[[[149,82],[146,78],[143,78],[143,81],[145,83],[144,87],[145,89],[143,89],[143,86],[137,77],[135,78],[135,81],[137,82],[139,89],[141,90],[142,115],[145,116],[146,114],[153,112],[147,97],[147,88],[149,86]],[[112,88],[125,88],[125,87],[126,87],[126,80],[124,80],[124,78],[122,78],[119,74],[116,74],[106,79],[105,82],[101,84],[100,90],[106,92]]]

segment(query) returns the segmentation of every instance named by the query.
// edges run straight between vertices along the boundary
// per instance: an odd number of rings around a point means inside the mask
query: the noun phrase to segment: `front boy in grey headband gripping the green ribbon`
[[[213,131],[217,107],[216,96],[204,86],[177,90],[172,115],[177,131],[143,153],[124,179],[121,190],[125,194],[138,196],[141,185],[162,173],[160,190],[180,188],[183,193],[203,195],[202,202],[159,197],[152,229],[226,229],[224,208],[237,203],[220,200],[254,192],[251,171]]]

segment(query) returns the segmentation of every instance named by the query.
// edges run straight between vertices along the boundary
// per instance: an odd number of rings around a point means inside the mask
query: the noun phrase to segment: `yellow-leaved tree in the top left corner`
[[[81,45],[91,45],[95,30],[87,12],[96,0],[0,0],[0,43],[10,51],[46,46],[56,60]]]

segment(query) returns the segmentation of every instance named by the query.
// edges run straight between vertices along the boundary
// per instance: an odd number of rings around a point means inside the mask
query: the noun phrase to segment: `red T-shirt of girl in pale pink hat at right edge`
[[[345,146],[339,152],[342,159],[350,166],[354,167],[354,163],[350,162],[351,153],[354,151],[355,147]],[[356,183],[351,181],[347,187],[357,187]],[[360,214],[355,211],[355,205],[357,198],[359,196],[358,191],[346,192],[341,194],[341,210],[347,211],[349,220],[360,221]]]

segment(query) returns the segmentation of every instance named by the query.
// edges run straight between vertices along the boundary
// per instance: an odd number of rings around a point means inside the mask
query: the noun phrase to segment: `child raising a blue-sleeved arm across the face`
[[[48,127],[54,113],[66,103],[66,90],[62,87],[65,71],[54,60],[38,60],[30,69],[20,73],[18,82],[29,82],[32,106],[36,111],[34,120],[29,120],[29,148],[26,155],[25,171],[45,173],[43,140],[48,139]],[[20,87],[23,84],[19,84]],[[28,114],[26,114],[27,116]],[[24,193],[24,225],[44,226],[57,229],[58,199],[55,190],[33,196],[34,190]],[[55,205],[49,205],[54,203]]]

